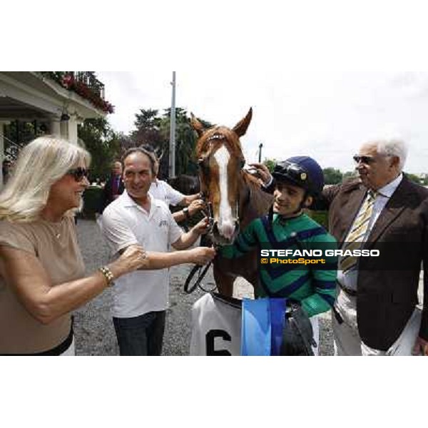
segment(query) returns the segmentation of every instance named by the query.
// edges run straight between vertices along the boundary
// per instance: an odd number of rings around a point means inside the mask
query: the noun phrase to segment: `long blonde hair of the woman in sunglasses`
[[[24,223],[39,219],[51,185],[82,163],[88,167],[91,155],[77,143],[56,136],[31,141],[19,153],[14,172],[0,193],[0,220]]]

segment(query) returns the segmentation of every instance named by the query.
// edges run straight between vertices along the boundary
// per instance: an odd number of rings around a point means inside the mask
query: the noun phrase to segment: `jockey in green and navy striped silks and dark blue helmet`
[[[324,186],[320,165],[308,156],[295,156],[278,162],[272,176],[266,173],[267,168],[256,166],[264,179],[270,178],[267,188],[273,190],[274,196],[270,213],[253,220],[235,243],[223,247],[220,254],[238,258],[255,248],[300,252],[336,249],[335,238],[304,212]],[[324,264],[284,264],[275,268],[260,263],[255,298],[285,297],[310,317],[317,336],[315,315],[330,310],[336,295],[337,258],[324,259]],[[315,341],[318,342],[317,337]]]

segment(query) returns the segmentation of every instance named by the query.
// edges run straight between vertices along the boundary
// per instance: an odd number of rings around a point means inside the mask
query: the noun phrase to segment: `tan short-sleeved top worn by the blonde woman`
[[[85,275],[73,218],[58,223],[0,221],[0,245],[8,245],[36,256],[51,278],[52,285]],[[43,325],[19,302],[4,275],[0,260],[0,354],[33,354],[51,350],[66,340],[71,314]]]

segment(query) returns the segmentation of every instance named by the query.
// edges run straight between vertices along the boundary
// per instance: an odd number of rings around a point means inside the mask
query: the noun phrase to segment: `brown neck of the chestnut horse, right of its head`
[[[240,225],[242,230],[255,218],[267,214],[272,205],[272,195],[265,193],[260,185],[249,180],[243,174],[240,176]]]

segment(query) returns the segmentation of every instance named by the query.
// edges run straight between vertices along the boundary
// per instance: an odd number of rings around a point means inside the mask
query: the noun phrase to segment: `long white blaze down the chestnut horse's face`
[[[218,179],[220,180],[220,211],[218,218],[218,231],[225,238],[232,238],[235,233],[232,208],[228,198],[228,163],[230,154],[225,146],[221,146],[214,154],[218,163]]]

